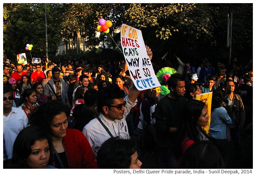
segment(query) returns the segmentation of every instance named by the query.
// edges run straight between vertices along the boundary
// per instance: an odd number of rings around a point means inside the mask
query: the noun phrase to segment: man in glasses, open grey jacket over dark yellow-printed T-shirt
[[[66,104],[69,109],[71,105],[67,96],[66,82],[60,78],[60,69],[58,67],[52,68],[52,78],[45,85],[44,94],[48,99],[58,99],[63,104]]]

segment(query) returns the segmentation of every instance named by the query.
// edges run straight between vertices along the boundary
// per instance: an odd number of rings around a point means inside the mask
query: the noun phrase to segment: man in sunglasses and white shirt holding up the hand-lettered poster
[[[148,46],[145,47],[151,60],[151,49]],[[100,111],[100,115],[83,128],[83,134],[89,141],[95,157],[102,143],[108,138],[119,136],[130,139],[126,116],[130,109],[136,105],[135,101],[139,94],[140,90],[137,90],[135,85],[132,86],[127,96],[116,85],[109,85],[99,91],[97,109]]]

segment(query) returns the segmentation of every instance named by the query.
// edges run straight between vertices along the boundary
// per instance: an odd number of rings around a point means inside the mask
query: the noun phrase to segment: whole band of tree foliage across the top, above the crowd
[[[98,20],[104,18],[113,23],[110,33],[123,23],[140,29],[154,59],[166,52],[169,58],[173,53],[184,59],[227,58],[227,14],[231,12],[232,56],[252,57],[252,3],[51,3],[47,4],[48,52],[52,58],[62,57],[54,56],[60,41],[77,48],[80,34],[81,40],[91,43],[91,50],[82,53],[78,49],[77,58],[96,62],[116,58],[115,55],[121,58],[116,48],[120,34],[113,36],[116,43],[109,34],[100,32],[97,36]],[[101,55],[94,54],[94,47],[101,42],[114,50],[108,52],[104,45]],[[30,56],[26,44],[33,44],[33,57],[45,57],[45,4],[4,3],[3,56],[15,59],[16,54],[24,52]],[[76,57],[76,49],[66,50],[67,54]]]

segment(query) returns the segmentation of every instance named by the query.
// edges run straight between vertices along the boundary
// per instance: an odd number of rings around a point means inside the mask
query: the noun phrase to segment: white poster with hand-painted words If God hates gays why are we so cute
[[[122,25],[121,45],[130,72],[130,76],[138,90],[159,87],[150,58],[147,55],[140,30],[129,25]]]

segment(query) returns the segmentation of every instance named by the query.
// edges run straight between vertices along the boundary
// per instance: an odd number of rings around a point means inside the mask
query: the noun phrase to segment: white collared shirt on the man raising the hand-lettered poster
[[[102,113],[100,113],[99,118],[106,125],[114,137],[120,136],[124,139],[130,139],[126,123],[126,116],[130,112],[130,109],[136,105],[136,103],[130,102],[128,96],[126,96],[124,100],[127,102],[125,106],[126,110],[124,113],[124,118],[121,120],[111,121],[104,117]],[[83,128],[83,134],[89,141],[95,157],[97,156],[97,152],[100,150],[102,143],[111,137],[97,118],[91,120]]]

